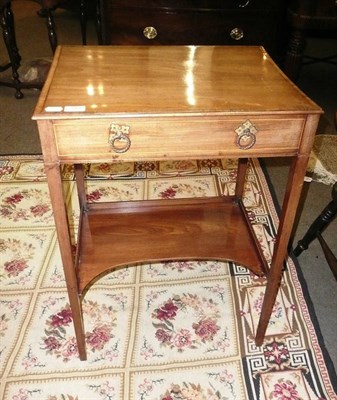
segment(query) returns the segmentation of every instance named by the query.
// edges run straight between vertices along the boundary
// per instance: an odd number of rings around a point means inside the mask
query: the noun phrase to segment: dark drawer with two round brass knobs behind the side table
[[[134,15],[137,18],[134,18]],[[116,8],[105,15],[104,44],[276,46],[280,26],[274,11],[160,11]]]

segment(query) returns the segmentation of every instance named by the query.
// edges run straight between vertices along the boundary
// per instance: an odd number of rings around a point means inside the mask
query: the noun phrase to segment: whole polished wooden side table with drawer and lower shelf
[[[255,338],[262,345],[321,112],[261,47],[57,48],[33,119],[82,360],[81,300],[90,283],[115,267],[145,261],[227,259],[265,274]],[[82,163],[219,157],[239,159],[234,196],[86,200]],[[241,200],[249,157],[291,158],[270,266]],[[81,207],[75,260],[62,164],[75,164]]]

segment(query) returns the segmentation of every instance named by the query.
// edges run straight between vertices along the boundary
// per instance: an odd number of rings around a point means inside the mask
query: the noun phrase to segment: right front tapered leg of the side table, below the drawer
[[[292,232],[297,205],[302,192],[307,163],[308,156],[297,156],[293,158],[290,167],[286,194],[283,201],[282,215],[276,236],[275,250],[268,273],[267,287],[255,338],[257,346],[263,344],[277,292],[281,283],[283,265],[287,254],[287,247]]]

